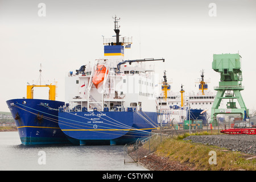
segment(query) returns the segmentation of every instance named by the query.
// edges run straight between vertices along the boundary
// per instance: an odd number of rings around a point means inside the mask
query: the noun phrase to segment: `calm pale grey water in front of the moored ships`
[[[39,164],[39,151],[46,164]],[[124,164],[123,146],[23,146],[18,132],[0,132],[0,155],[0,170],[147,170]]]

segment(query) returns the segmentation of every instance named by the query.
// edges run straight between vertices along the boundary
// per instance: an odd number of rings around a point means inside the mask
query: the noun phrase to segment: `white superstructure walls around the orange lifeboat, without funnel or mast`
[[[137,107],[138,110],[156,111],[154,69],[147,69],[142,63],[129,65],[127,62],[117,71],[121,61],[99,59],[86,66],[85,71],[69,72],[65,78],[65,102],[69,107],[81,106],[89,110]],[[97,65],[105,65],[108,70],[98,88],[92,82]]]

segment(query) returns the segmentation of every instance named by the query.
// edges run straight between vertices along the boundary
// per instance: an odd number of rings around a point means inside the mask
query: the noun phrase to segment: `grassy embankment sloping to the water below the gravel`
[[[195,133],[191,135],[209,135],[211,133]],[[217,133],[213,133],[217,134]],[[219,171],[219,170],[256,170],[256,159],[246,159],[246,155],[216,146],[209,146],[191,141],[183,140],[189,134],[179,135],[176,138],[168,138],[156,147],[155,154],[167,157],[187,164],[189,167],[200,171]],[[154,145],[152,140],[152,145]],[[209,164],[210,151],[217,154],[217,164]],[[248,157],[247,157],[248,158]]]

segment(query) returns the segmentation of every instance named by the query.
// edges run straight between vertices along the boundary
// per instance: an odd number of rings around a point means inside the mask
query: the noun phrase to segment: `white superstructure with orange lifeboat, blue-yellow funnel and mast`
[[[104,59],[86,63],[65,78],[65,103],[69,109],[115,110],[137,109],[156,112],[154,67],[148,61],[125,60],[124,48],[131,38],[120,38],[115,17],[115,40],[104,39]]]

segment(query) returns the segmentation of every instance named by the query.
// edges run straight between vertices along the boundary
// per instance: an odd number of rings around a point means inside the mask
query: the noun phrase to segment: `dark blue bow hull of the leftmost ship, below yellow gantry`
[[[24,145],[70,143],[59,128],[58,107],[65,103],[40,99],[6,101]]]

